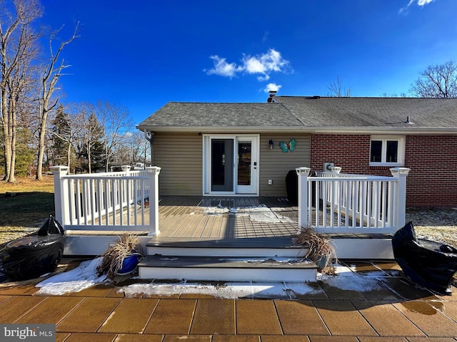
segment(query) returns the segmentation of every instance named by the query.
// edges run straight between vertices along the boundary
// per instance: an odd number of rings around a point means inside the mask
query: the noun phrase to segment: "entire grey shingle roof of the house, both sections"
[[[271,103],[170,102],[141,130],[446,130],[457,133],[457,98],[275,96]],[[411,123],[406,123],[407,118]]]

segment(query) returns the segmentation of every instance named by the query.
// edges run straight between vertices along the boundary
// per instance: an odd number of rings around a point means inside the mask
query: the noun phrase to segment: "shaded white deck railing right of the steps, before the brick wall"
[[[409,169],[391,169],[393,177],[317,172],[298,175],[298,224],[324,233],[393,233],[406,220],[406,176]]]

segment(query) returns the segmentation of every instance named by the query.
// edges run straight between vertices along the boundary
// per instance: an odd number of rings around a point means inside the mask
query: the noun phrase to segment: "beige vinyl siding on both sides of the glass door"
[[[282,152],[279,142],[296,140],[293,152]],[[273,140],[270,150],[268,140]],[[161,195],[196,195],[203,193],[203,140],[198,133],[156,133],[154,165],[162,168],[159,175]],[[285,197],[286,175],[296,167],[310,165],[310,135],[261,134],[259,182],[260,195]],[[273,185],[268,185],[273,180]]]

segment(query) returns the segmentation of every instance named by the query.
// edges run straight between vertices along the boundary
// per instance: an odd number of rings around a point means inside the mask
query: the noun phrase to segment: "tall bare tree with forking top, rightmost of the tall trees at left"
[[[63,26],[58,31],[52,33],[51,38],[49,38],[49,63],[46,66],[44,66],[44,71],[41,76],[41,94],[39,98],[39,149],[37,162],[38,165],[36,167],[37,180],[43,179],[43,157],[48,114],[51,110],[53,110],[56,107],[57,103],[59,103],[59,98],[52,99],[52,95],[54,93],[54,90],[56,90],[57,81],[59,81],[59,78],[64,75],[62,71],[64,71],[65,68],[69,67],[69,65],[64,62],[64,59],[62,59],[59,63],[59,56],[62,50],[64,50],[64,47],[78,37],[76,36],[76,32],[78,31],[78,24],[76,24],[73,35],[66,41],[62,41],[56,53],[54,53],[52,48],[53,42],[56,38],[57,33],[59,33],[62,28]]]

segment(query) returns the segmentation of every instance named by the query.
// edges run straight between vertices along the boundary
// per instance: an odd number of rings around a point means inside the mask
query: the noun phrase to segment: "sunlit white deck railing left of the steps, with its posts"
[[[65,166],[51,170],[56,219],[65,230],[159,234],[160,167],[86,175],[67,175]]]

